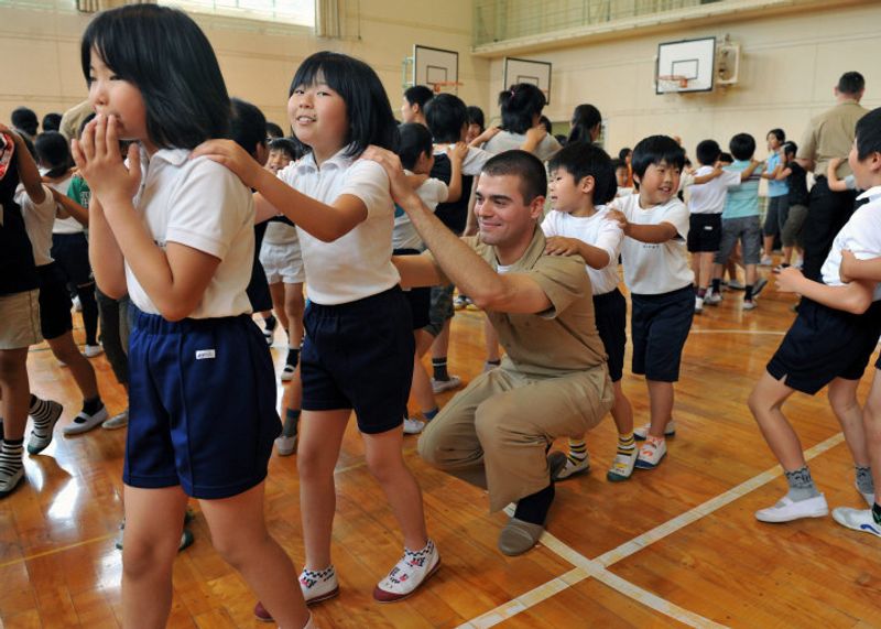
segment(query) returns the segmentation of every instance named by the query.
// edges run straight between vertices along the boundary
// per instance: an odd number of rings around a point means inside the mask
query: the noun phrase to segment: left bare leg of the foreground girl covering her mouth
[[[187,496],[180,486],[126,486],[122,549],[122,625],[162,629],[172,606],[172,564],[177,556]]]

